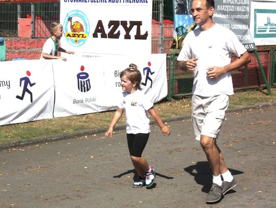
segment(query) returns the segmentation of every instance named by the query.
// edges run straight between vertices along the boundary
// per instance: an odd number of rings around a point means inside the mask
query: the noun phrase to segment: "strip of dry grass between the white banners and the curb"
[[[271,95],[267,95],[266,92],[267,90],[262,91],[256,89],[237,91],[235,95],[230,97],[228,109],[276,102],[276,89],[271,88]],[[163,119],[190,115],[192,112],[191,96],[178,97],[172,101],[165,99],[156,103],[154,108]],[[106,111],[4,125],[0,127],[0,143],[60,135],[95,128],[107,129],[113,113],[114,111]],[[123,115],[118,125],[124,125],[125,122],[125,116]]]

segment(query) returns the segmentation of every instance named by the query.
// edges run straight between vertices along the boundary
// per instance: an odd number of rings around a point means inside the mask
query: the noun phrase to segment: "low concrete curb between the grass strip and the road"
[[[245,107],[240,107],[240,108],[235,108],[235,109],[228,109],[226,112],[237,112],[237,111],[258,109],[258,108],[271,107],[271,106],[276,106],[276,103],[264,103],[264,104],[245,106]],[[187,120],[190,118],[191,118],[191,115],[185,115],[183,117],[163,119],[163,122]],[[155,124],[155,122],[151,122],[150,124]],[[124,128],[126,128],[125,125],[119,125],[119,126],[116,126],[114,128],[114,130],[117,131],[117,130],[122,130]],[[78,132],[73,132],[73,133],[60,134],[60,135],[55,135],[55,136],[44,136],[44,137],[31,138],[29,140],[20,140],[20,141],[15,141],[15,142],[2,143],[2,144],[0,144],[0,150],[12,148],[12,147],[20,147],[20,146],[26,146],[26,145],[39,144],[39,143],[50,142],[50,141],[65,140],[66,138],[74,138],[76,136],[104,133],[106,131],[106,129],[107,129],[107,127],[106,128],[96,128],[96,129],[83,130],[83,131],[78,131]]]

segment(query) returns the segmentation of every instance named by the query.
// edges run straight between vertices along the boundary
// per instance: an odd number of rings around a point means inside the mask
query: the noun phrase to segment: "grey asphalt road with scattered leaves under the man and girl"
[[[212,172],[189,120],[152,126],[152,189],[133,189],[125,130],[0,151],[0,207],[276,207],[276,106],[227,113],[218,145],[238,185],[206,204]]]

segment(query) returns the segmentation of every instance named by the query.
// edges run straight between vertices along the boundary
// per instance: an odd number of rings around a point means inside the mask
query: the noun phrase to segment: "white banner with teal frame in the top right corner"
[[[276,1],[251,1],[250,32],[256,45],[276,44]]]

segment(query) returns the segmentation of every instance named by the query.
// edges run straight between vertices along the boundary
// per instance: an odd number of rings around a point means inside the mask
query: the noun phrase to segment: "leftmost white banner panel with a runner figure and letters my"
[[[52,118],[51,61],[2,61],[0,68],[0,125]]]

